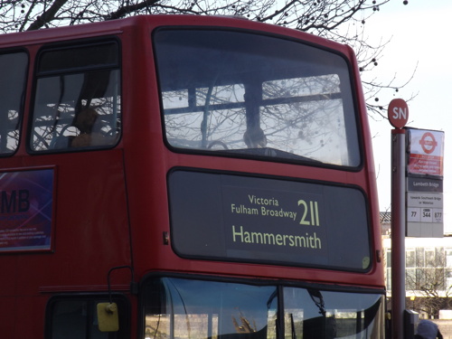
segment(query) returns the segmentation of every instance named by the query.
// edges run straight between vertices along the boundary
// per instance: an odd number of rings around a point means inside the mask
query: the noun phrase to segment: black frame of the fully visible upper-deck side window
[[[97,44],[108,44],[114,42],[118,46],[118,55],[117,55],[117,66],[114,67],[112,63],[109,63],[108,66],[98,66],[98,67],[78,67],[71,69],[61,69],[61,71],[39,71],[39,65],[42,59],[42,54],[45,52],[57,52],[63,50],[71,50],[75,48],[83,48],[89,46],[95,46]],[[62,42],[50,42],[44,43],[36,52],[34,57],[34,65],[33,65],[33,77],[32,80],[32,92],[30,95],[30,107],[28,108],[28,121],[26,128],[26,141],[25,148],[28,154],[30,155],[48,155],[48,154],[66,154],[66,153],[78,153],[78,152],[90,152],[90,151],[99,151],[99,150],[108,150],[113,149],[119,145],[121,139],[123,137],[123,119],[124,119],[124,94],[123,94],[123,66],[122,66],[122,42],[117,35],[101,35],[99,37],[90,37],[90,38],[82,38],[77,40],[67,40]],[[46,150],[34,150],[32,147],[33,142],[33,123],[34,123],[34,107],[37,98],[37,89],[38,89],[38,80],[44,79],[47,77],[52,77],[56,75],[71,75],[71,74],[86,74],[90,72],[98,72],[98,71],[118,71],[119,75],[119,83],[118,83],[118,98],[119,98],[119,124],[118,124],[118,137],[116,137],[116,141],[112,144],[105,144],[100,146],[84,146],[84,147],[63,147],[63,148],[49,148]],[[69,125],[71,126],[71,125]]]

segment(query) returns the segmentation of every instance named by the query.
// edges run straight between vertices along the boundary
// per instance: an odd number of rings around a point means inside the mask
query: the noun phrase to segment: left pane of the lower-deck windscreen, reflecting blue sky
[[[162,278],[146,288],[146,338],[276,338],[276,287]]]

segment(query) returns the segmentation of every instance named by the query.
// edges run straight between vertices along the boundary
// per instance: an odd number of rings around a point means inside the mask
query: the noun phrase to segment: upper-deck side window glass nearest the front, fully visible
[[[37,69],[32,151],[117,144],[121,120],[117,42],[43,50]]]

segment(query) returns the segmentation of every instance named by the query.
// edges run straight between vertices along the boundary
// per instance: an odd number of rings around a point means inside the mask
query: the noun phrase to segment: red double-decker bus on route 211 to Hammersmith
[[[381,338],[351,48],[240,18],[0,37],[5,338]]]

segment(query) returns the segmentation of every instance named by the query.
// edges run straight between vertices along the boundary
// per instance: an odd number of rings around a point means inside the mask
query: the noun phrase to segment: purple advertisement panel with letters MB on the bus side
[[[0,252],[51,250],[53,169],[0,173]]]

